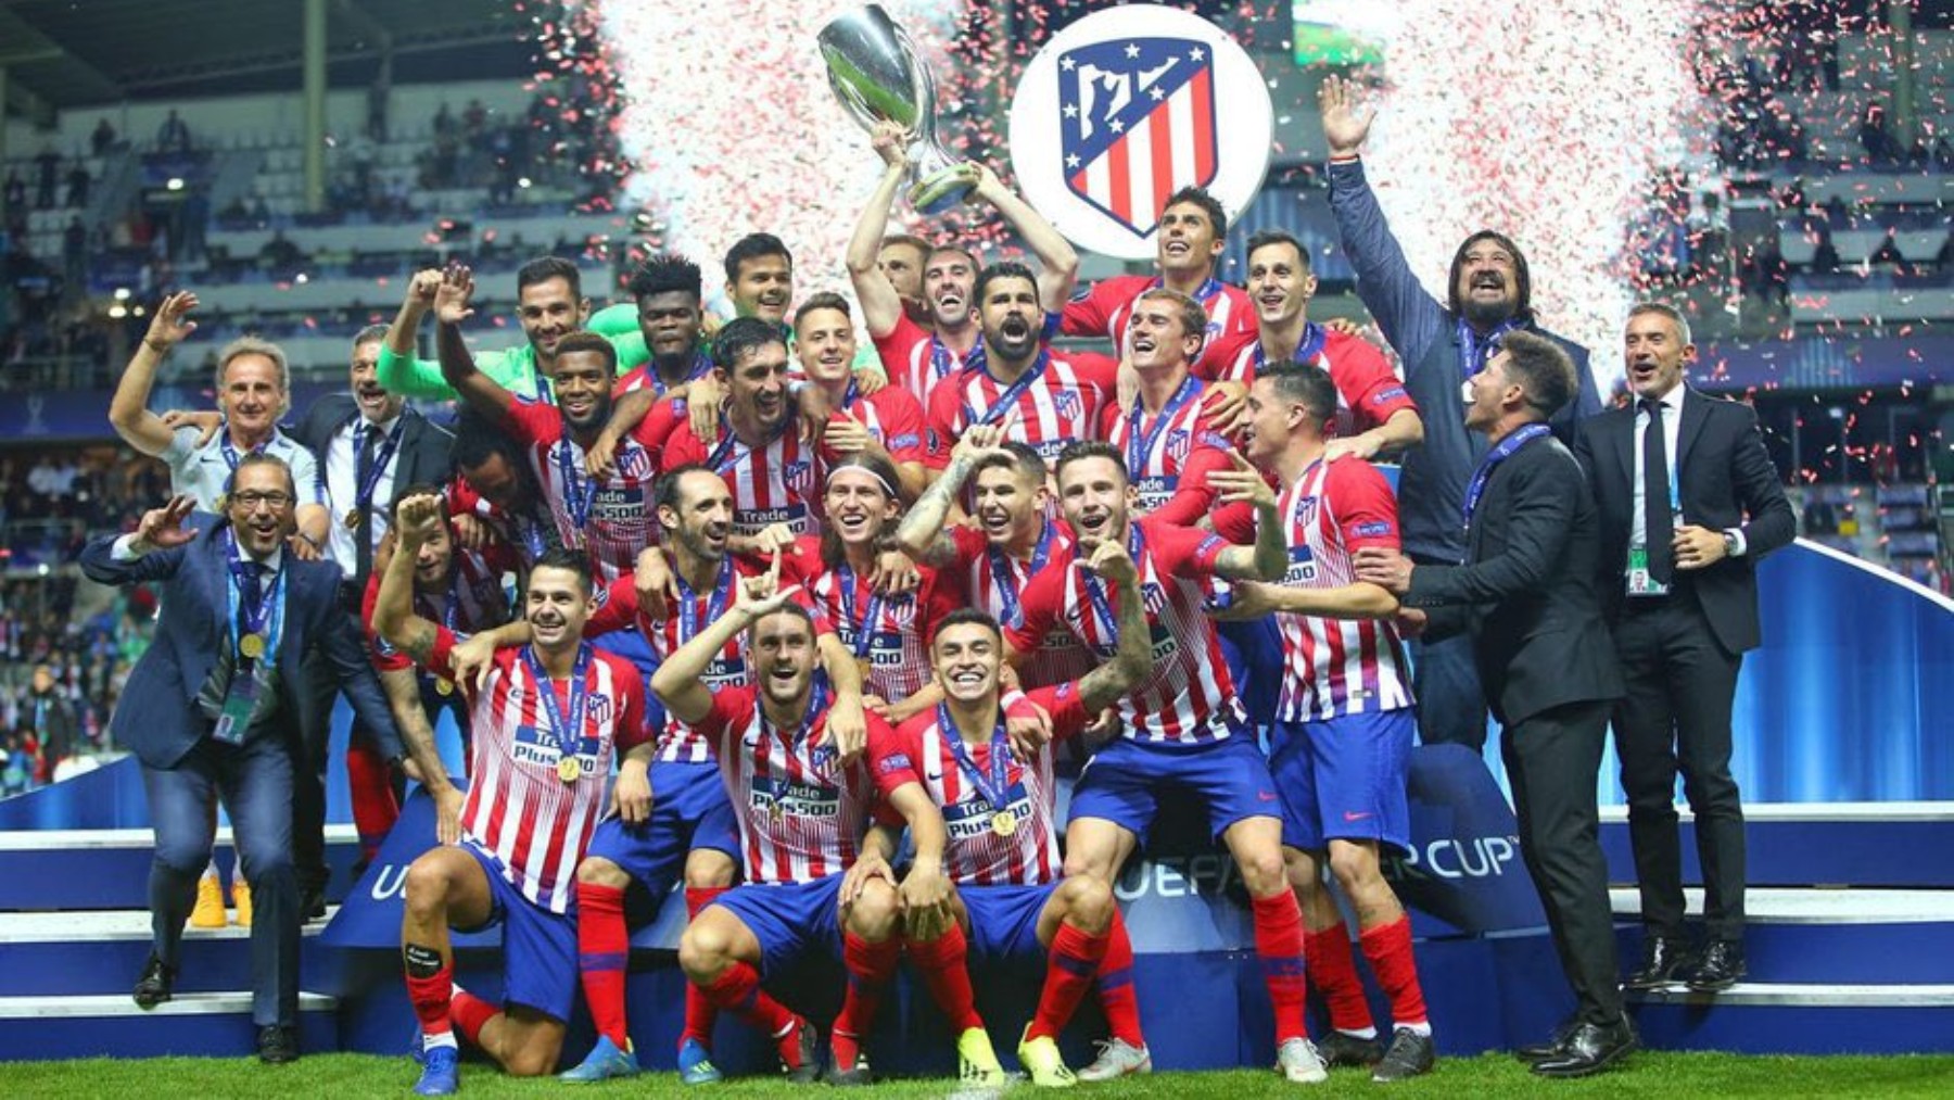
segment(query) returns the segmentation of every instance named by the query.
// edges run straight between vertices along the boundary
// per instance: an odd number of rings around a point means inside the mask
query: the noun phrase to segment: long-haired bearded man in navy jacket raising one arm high
[[[1358,150],[1372,115],[1356,113],[1352,88],[1348,80],[1325,78],[1317,104],[1331,145],[1331,211],[1344,254],[1356,268],[1358,297],[1405,363],[1405,389],[1424,416],[1424,442],[1405,455],[1397,483],[1405,553],[1421,565],[1458,565],[1466,561],[1466,535],[1458,522],[1466,483],[1485,455],[1485,444],[1464,428],[1460,385],[1485,369],[1499,338],[1516,330],[1538,332],[1559,344],[1575,363],[1577,395],[1551,420],[1563,444],[1573,445],[1575,420],[1600,410],[1600,395],[1589,373],[1587,350],[1536,324],[1526,256],[1507,236],[1489,229],[1473,233],[1452,256],[1446,301],[1424,291],[1364,180]],[[1483,748],[1487,692],[1479,684],[1469,641],[1464,635],[1415,639],[1411,658],[1424,742]]]

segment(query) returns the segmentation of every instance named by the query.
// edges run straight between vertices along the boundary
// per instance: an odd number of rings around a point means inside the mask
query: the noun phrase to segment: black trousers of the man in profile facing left
[[[1520,823],[1520,860],[1548,910],[1553,950],[1585,1024],[1622,1018],[1594,799],[1608,707],[1606,701],[1553,707],[1505,727],[1499,740]]]

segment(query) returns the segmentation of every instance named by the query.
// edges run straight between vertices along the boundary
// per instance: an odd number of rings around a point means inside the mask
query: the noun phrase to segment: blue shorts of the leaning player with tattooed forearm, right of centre
[[[1071,817],[1110,821],[1145,844],[1163,787],[1200,795],[1208,803],[1208,832],[1217,840],[1247,817],[1282,817],[1268,760],[1241,733],[1198,746],[1116,739],[1086,760],[1073,787]]]

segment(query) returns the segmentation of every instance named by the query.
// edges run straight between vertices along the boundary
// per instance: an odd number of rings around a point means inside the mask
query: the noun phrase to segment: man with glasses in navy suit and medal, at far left
[[[401,756],[373,668],[338,610],[338,567],[287,553],[297,500],[283,459],[248,453],[231,475],[223,516],[186,526],[193,502],[176,496],[145,514],[133,533],[82,551],[82,572],[96,582],[162,586],[156,637],[109,719],[115,740],[143,764],[156,828],[149,873],[154,950],[135,1002],[152,1008],[170,1000],[184,922],[211,856],[215,799],[223,799],[256,899],[252,1022],[266,1063],[299,1057],[291,774],[307,653],[328,655],[354,709],[379,733],[389,758]]]

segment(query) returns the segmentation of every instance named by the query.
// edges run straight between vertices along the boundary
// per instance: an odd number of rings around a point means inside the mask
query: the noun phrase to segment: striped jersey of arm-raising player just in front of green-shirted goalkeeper
[[[530,469],[557,520],[563,545],[586,549],[598,580],[631,572],[637,551],[658,541],[651,488],[657,465],[645,426],[639,424],[617,444],[612,475],[596,485],[590,483],[584,449],[563,434],[563,412],[555,404],[516,399],[508,426],[530,453]]]

